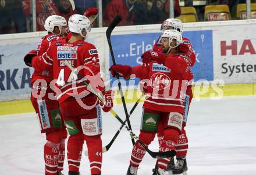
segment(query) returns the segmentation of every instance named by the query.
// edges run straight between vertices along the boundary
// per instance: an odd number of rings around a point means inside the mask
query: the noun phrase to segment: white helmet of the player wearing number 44
[[[87,17],[80,14],[73,14],[70,16],[69,31],[80,34],[82,37],[86,38],[86,36],[82,34],[83,28],[86,29],[87,34],[91,31],[91,23]]]

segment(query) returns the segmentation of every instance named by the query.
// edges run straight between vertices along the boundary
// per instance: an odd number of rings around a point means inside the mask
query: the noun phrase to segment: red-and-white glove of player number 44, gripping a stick
[[[103,103],[99,103],[101,105],[101,108],[104,112],[108,112],[113,107],[113,99],[115,96],[115,91],[108,90],[105,92],[102,92],[103,95]]]

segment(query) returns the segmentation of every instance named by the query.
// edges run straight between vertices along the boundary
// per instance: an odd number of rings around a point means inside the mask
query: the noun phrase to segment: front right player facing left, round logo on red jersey
[[[158,132],[158,123],[163,123],[163,141],[160,151],[175,150],[182,132],[184,94],[187,82],[193,78],[189,68],[191,59],[187,54],[178,53],[182,35],[176,30],[166,30],[161,36],[163,52],[147,51],[141,55],[143,65],[112,65],[112,74],[118,72],[126,79],[135,74],[147,83],[147,94],[143,104],[140,140],[149,145]],[[133,147],[127,175],[137,174],[138,166],[145,155],[145,149],[138,143]],[[156,173],[165,174],[170,159],[158,159]]]

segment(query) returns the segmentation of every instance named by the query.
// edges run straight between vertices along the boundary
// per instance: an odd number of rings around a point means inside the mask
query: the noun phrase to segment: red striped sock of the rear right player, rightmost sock
[[[189,141],[187,140],[186,130],[182,129],[182,133],[179,136],[179,139],[176,144],[176,157],[187,156],[187,149],[189,148]]]

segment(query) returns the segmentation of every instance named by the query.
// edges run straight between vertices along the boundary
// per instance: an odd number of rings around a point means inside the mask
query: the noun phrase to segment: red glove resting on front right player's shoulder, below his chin
[[[166,54],[162,52],[146,51],[141,55],[142,62],[148,64],[150,62],[156,62],[158,64],[165,63]]]

